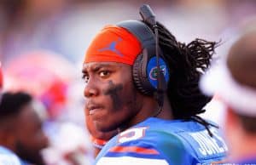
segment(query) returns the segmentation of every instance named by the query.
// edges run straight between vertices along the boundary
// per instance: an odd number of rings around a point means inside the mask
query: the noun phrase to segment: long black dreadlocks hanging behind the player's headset
[[[179,43],[160,22],[157,22],[157,28],[160,48],[170,70],[167,96],[172,105],[173,117],[200,122],[212,136],[208,126],[217,126],[198,116],[205,112],[203,107],[212,100],[212,97],[201,93],[199,81],[209,67],[218,43],[199,38],[189,44]]]

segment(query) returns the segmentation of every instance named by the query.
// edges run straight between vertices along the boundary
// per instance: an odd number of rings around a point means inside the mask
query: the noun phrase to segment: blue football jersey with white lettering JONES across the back
[[[96,165],[188,165],[219,162],[227,146],[217,128],[198,122],[150,117],[108,141]]]

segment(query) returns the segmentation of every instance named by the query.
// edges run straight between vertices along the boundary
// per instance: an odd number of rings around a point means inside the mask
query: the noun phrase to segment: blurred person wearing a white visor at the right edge
[[[243,29],[244,30],[244,29]],[[202,89],[219,95],[226,105],[224,133],[229,160],[235,164],[256,163],[256,26],[249,26],[227,57],[202,78]],[[221,83],[211,83],[221,80]]]

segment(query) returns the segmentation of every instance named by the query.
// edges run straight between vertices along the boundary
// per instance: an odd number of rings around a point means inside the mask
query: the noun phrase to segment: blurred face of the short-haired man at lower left
[[[17,121],[16,151],[17,154],[35,164],[42,163],[40,151],[49,145],[48,138],[42,130],[42,120],[33,109],[32,104],[25,105]]]

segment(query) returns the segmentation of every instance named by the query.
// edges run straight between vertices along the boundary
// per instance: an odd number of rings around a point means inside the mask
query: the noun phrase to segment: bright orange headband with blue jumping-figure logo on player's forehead
[[[129,31],[119,26],[106,26],[90,43],[84,63],[120,62],[133,65],[141,50],[141,43]]]

